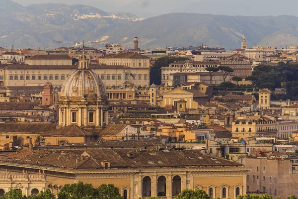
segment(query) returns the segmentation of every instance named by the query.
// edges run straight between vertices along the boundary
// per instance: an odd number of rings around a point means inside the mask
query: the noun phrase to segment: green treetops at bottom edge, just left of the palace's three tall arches
[[[58,199],[123,199],[119,189],[112,184],[103,184],[94,189],[91,184],[78,182],[64,185],[58,194]]]

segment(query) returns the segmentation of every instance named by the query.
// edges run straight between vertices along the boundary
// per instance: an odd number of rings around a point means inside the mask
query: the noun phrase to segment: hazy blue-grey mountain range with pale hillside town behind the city
[[[145,5],[144,5],[145,6]],[[182,7],[181,7],[182,9]],[[110,13],[87,5],[43,3],[22,6],[0,0],[0,46],[10,48],[62,45],[59,41],[121,42],[140,48],[207,44],[239,48],[243,35],[248,46],[298,45],[298,17],[227,16],[198,13],[169,13],[147,19],[127,12]],[[3,42],[3,43],[2,43]],[[99,47],[99,46],[96,46]]]

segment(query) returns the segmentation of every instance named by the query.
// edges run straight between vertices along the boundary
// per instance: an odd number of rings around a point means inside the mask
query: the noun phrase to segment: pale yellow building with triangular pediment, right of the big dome
[[[165,107],[168,105],[177,106],[177,101],[185,100],[186,108],[198,108],[198,102],[193,100],[194,94],[182,89],[174,89],[172,91],[166,92],[163,95],[163,100],[158,103],[160,107]]]

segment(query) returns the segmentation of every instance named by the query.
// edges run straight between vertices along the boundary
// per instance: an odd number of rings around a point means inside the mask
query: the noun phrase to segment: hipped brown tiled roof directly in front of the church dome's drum
[[[57,129],[53,129],[51,131],[46,131],[41,133],[43,136],[86,136],[92,135],[91,132],[88,132],[76,125],[70,125],[66,127],[61,127]]]

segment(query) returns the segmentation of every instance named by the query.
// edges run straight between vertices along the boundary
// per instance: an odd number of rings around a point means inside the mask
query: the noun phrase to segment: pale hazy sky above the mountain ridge
[[[32,3],[85,4],[107,12],[130,12],[151,17],[171,12],[195,12],[224,15],[295,15],[298,0],[13,0]]]

